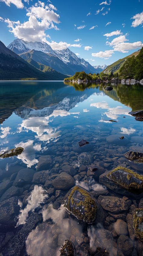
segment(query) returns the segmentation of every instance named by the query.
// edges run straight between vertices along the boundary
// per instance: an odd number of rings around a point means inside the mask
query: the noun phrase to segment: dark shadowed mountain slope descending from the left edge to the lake
[[[28,63],[0,41],[0,80],[63,80],[65,75],[40,63]]]

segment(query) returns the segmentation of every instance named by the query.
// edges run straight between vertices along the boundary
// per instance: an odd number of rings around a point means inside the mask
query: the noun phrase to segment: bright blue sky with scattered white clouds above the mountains
[[[143,46],[143,0],[0,0],[0,40],[16,38],[110,65]]]

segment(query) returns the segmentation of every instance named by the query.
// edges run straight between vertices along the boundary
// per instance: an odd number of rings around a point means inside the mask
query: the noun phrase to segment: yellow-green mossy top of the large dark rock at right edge
[[[121,173],[120,173],[121,171]],[[130,192],[140,194],[143,191],[143,176],[125,167],[118,166],[110,171],[106,177]]]

